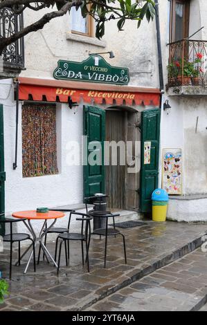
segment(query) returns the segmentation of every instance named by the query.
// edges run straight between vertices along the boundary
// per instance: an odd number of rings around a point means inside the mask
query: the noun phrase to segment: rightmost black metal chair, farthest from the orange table
[[[113,218],[115,216],[119,216],[120,214],[111,214],[110,212],[107,211],[92,211],[90,213],[90,216],[93,216],[94,218],[99,218],[99,219],[105,219],[106,223],[105,223],[105,228],[100,228],[100,229],[96,229],[93,230],[93,234],[98,234],[100,236],[105,236],[105,267],[106,267],[106,261],[107,261],[107,237],[108,236],[116,236],[116,235],[120,235],[123,236],[123,246],[124,246],[124,254],[125,254],[125,264],[127,264],[127,253],[126,253],[126,244],[125,244],[125,236],[118,230],[115,228],[108,228],[108,221],[109,218]]]

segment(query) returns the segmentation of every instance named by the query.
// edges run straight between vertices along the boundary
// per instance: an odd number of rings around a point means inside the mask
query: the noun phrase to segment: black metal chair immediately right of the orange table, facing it
[[[81,228],[80,232],[70,232],[70,225],[71,225],[71,216],[81,216],[81,218],[76,218],[77,221],[81,221]],[[59,239],[60,241],[60,248],[59,248],[59,256],[58,256],[58,263],[57,263],[57,274],[60,270],[60,257],[61,257],[61,250],[62,250],[62,243],[64,242],[65,246],[65,258],[66,258],[66,266],[68,266],[68,259],[70,258],[70,252],[69,252],[69,241],[81,241],[81,248],[82,248],[82,265],[84,266],[84,246],[83,243],[86,243],[86,262],[87,262],[87,268],[88,272],[90,272],[89,268],[89,242],[91,238],[91,217],[88,214],[80,213],[80,212],[71,212],[69,217],[69,229],[68,232],[64,232],[63,234],[60,234],[57,236],[56,239],[56,245],[55,245],[55,261],[57,259],[57,245]],[[85,222],[85,226],[84,226]],[[68,243],[68,254],[66,250],[66,242]]]

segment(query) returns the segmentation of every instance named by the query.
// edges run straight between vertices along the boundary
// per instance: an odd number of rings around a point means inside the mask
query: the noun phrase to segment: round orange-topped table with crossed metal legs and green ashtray
[[[48,251],[48,249],[44,245],[43,239],[44,239],[44,236],[46,236],[47,232],[53,227],[53,225],[55,225],[55,222],[57,221],[57,219],[62,218],[64,216],[64,213],[59,212],[59,211],[48,211],[48,212],[40,213],[40,212],[36,212],[35,210],[30,210],[30,211],[14,212],[14,213],[12,213],[12,216],[14,216],[15,218],[19,218],[19,219],[27,219],[28,223],[26,222],[26,220],[24,220],[23,222],[26,225],[26,228],[28,228],[30,234],[32,234],[33,240],[35,242],[35,246],[39,242],[39,246],[42,248],[44,254],[46,254],[46,257],[48,256],[51,259],[51,261],[53,262],[54,266],[56,266],[56,268],[57,268],[57,263],[55,262],[51,253]],[[44,220],[44,224],[43,224],[42,229],[39,232],[38,236],[35,233],[35,230],[31,224],[31,221],[33,221],[33,220]],[[52,220],[53,222],[51,223],[51,225],[48,226],[47,221],[49,221],[49,220]],[[24,252],[24,254],[21,255],[20,259],[22,259],[24,257],[24,255],[28,252],[28,250],[30,250],[30,248],[32,248],[32,245],[30,245],[27,248],[27,250]],[[28,266],[30,264],[30,260],[32,259],[32,257],[33,257],[33,250],[30,253],[30,256],[28,258],[28,263],[26,264],[24,274],[28,270]]]

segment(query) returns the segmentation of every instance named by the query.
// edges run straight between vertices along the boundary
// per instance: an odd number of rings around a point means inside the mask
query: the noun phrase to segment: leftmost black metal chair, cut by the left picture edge
[[[23,233],[13,233],[13,223],[25,221],[26,219],[11,219],[11,218],[5,218],[1,219],[1,216],[4,216],[4,214],[0,215],[0,223],[10,223],[10,234],[6,234],[3,236],[3,241],[10,243],[10,279],[12,278],[12,245],[15,242],[18,242],[19,250],[18,250],[18,264],[20,266],[20,259],[21,259],[21,247],[20,243],[21,241],[32,241],[33,242],[33,257],[34,257],[34,272],[36,272],[36,265],[35,265],[35,243],[33,239],[31,239],[29,234],[23,234]]]

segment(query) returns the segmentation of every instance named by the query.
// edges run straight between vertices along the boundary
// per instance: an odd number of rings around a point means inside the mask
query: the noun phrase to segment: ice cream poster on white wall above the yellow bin
[[[168,194],[182,194],[181,149],[163,149],[162,188]]]

